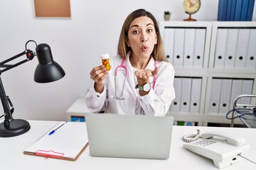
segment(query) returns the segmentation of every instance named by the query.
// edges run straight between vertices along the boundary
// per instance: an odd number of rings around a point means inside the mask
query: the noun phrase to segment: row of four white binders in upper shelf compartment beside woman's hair
[[[203,68],[206,28],[164,29],[164,49],[174,67]]]

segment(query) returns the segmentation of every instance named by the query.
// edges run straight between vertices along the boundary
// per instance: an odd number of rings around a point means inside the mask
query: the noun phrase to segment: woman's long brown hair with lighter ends
[[[136,11],[133,11],[125,19],[124,24],[122,26],[121,33],[120,33],[120,37],[119,37],[119,42],[118,42],[118,47],[117,47],[117,55],[120,55],[122,58],[124,58],[124,57],[126,57],[127,52],[129,50],[132,50],[132,48],[128,47],[127,43],[126,43],[126,40],[128,38],[128,30],[129,30],[129,27],[131,26],[132,21],[134,21],[135,18],[139,18],[141,16],[147,16],[147,17],[151,18],[151,20],[154,23],[154,28],[156,30],[157,43],[156,43],[151,55],[154,57],[154,60],[156,60],[158,62],[161,62],[161,61],[168,62],[166,56],[164,55],[164,45],[163,45],[163,41],[161,39],[161,35],[159,33],[159,26],[156,22],[156,18],[154,18],[154,16],[149,11],[146,11],[142,8],[137,9]]]

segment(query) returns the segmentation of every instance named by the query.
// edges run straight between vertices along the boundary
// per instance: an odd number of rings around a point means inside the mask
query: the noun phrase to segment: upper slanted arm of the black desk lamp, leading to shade
[[[16,58],[21,57],[23,55],[26,55],[26,60],[23,60],[21,62],[17,62],[16,64],[6,64],[7,62],[11,62],[12,60],[15,60]],[[3,62],[0,62],[0,67],[1,68],[3,68],[3,67],[5,68],[5,69],[2,69],[0,71],[0,74],[2,72],[6,72],[9,69],[17,67],[18,65],[21,65],[21,64],[23,64],[25,62],[28,62],[29,60],[33,60],[33,57],[35,57],[35,56],[36,56],[35,52],[33,52],[31,50],[25,50],[25,51],[19,53],[18,55],[15,55],[14,57],[11,57],[11,58],[9,58],[7,60],[4,60]]]

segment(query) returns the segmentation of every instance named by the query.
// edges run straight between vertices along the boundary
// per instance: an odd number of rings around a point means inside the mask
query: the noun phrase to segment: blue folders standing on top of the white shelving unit
[[[252,21],[255,0],[219,0],[218,21]]]

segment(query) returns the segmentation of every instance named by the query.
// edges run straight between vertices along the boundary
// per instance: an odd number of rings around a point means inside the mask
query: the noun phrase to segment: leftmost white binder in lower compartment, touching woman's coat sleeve
[[[174,90],[175,90],[175,98],[171,103],[170,112],[171,113],[179,113],[181,106],[181,77],[174,78]]]

